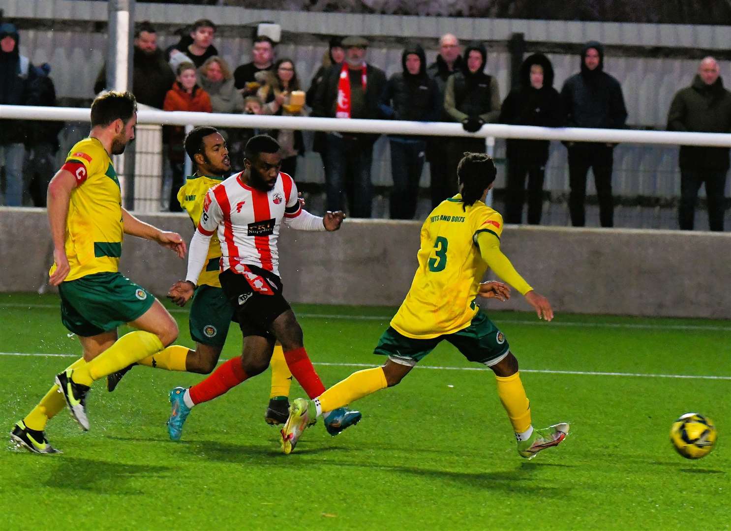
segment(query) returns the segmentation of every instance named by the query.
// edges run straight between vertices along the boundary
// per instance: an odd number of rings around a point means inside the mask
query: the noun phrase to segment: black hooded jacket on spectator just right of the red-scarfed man
[[[421,68],[415,75],[406,69],[406,56],[419,56]],[[426,73],[426,55],[423,47],[414,44],[406,47],[401,54],[403,72],[396,72],[386,83],[381,97],[381,110],[385,117],[394,120],[435,121],[442,110],[439,87]],[[399,137],[411,138],[417,137]]]

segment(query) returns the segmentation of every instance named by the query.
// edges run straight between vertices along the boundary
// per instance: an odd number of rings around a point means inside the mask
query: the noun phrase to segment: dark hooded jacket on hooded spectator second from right
[[[589,48],[599,53],[599,66],[589,70],[584,56]],[[572,75],[561,89],[568,127],[623,129],[627,119],[619,82],[604,72],[604,47],[589,41],[581,50],[581,71]]]

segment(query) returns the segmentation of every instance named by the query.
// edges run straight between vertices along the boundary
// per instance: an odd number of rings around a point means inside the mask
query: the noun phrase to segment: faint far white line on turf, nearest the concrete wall
[[[58,309],[58,305],[22,304],[7,302],[0,304],[3,308],[48,308]],[[188,313],[185,308],[170,308],[170,313]],[[390,322],[393,316],[344,316],[333,313],[298,313],[298,317],[313,319],[335,319],[344,321],[382,321]],[[498,324],[521,324],[527,326],[577,326],[586,328],[633,328],[646,330],[708,330],[710,332],[731,332],[731,326],[714,326],[712,324],[636,324],[636,323],[577,323],[575,321],[551,321],[546,325],[544,321],[522,321],[520,319],[498,319]]]

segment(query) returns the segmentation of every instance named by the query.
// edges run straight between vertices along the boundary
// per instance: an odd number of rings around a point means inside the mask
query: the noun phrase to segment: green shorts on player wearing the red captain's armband
[[[94,273],[62,282],[61,322],[82,337],[109,332],[135,321],[155,302],[155,297],[121,273]]]

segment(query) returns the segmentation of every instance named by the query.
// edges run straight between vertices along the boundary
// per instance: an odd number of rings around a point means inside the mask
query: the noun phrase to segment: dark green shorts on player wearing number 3
[[[485,313],[477,312],[467,328],[431,339],[406,337],[389,326],[383,332],[374,354],[388,356],[393,362],[413,367],[442,340],[455,345],[470,362],[482,363],[488,367],[500,362],[510,351],[505,335]]]

